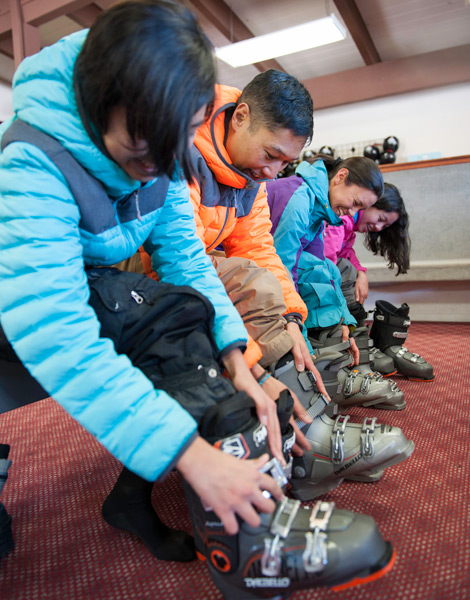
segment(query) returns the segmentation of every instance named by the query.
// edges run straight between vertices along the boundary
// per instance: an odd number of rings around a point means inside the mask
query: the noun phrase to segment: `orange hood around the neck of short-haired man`
[[[225,114],[234,108],[241,91],[226,85],[217,85],[215,90],[214,110],[210,119],[196,132],[194,144],[203,155],[217,181],[229,187],[243,189],[255,188],[259,182],[247,177],[233,166],[225,146]]]

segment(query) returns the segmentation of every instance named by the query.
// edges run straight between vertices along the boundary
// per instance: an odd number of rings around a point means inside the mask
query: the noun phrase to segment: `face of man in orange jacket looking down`
[[[234,167],[254,179],[274,179],[299,156],[306,139],[290,129],[270,131],[264,125],[253,126],[250,109],[241,103],[229,125],[226,149]]]

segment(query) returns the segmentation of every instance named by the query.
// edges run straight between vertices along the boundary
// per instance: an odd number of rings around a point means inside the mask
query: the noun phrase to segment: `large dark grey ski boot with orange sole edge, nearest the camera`
[[[245,394],[209,409],[200,433],[240,459],[269,452],[266,428]],[[275,459],[263,471],[281,487],[285,485],[284,472]],[[364,583],[393,566],[395,553],[374,520],[337,509],[332,502],[308,508],[284,497],[276,502],[273,514],[260,514],[258,527],[239,518],[239,532],[227,535],[212,509],[204,507],[187,484],[184,487],[196,548],[224,600],[285,600],[295,590]]]

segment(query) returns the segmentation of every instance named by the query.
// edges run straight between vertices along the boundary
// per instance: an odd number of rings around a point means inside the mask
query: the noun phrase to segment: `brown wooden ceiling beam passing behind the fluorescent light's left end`
[[[243,21],[223,0],[188,0],[196,11],[216,27],[231,43],[241,42],[255,37]],[[264,60],[254,63],[258,71],[263,72],[268,69],[277,69],[284,71],[277,60]]]

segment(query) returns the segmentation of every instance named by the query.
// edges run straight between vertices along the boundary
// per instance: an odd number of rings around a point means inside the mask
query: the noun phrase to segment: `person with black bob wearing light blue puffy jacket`
[[[108,523],[167,560],[195,558],[192,538],[169,530],[152,507],[153,482],[171,469],[230,533],[237,514],[256,526],[259,510],[274,510],[263,490],[281,497],[257,469],[268,456],[250,465],[217,451],[162,383],[165,360],[178,365],[180,381],[194,370],[219,387],[226,368],[283,459],[276,406],[243,359],[247,333],[196,235],[183,176],[215,81],[212,45],[189,11],[124,2],[24,60],[15,115],[0,129],[4,346],[124,464],[103,507]],[[103,268],[142,244],[160,282]],[[194,318],[185,332],[186,305]],[[198,310],[205,325],[196,324]],[[180,356],[192,330],[195,350]]]

